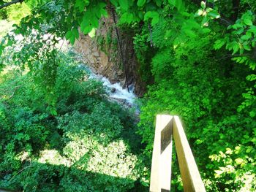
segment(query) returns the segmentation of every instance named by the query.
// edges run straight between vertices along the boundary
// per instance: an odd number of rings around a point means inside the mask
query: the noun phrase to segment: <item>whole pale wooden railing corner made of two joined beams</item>
[[[206,191],[181,121],[170,115],[157,115],[150,191],[170,191],[173,139],[184,191]]]

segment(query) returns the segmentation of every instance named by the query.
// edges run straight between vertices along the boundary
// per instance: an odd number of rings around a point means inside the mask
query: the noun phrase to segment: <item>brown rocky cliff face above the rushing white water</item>
[[[135,85],[135,94],[143,96],[146,83],[140,80],[139,64],[133,50],[131,34],[118,30],[122,53],[118,45],[115,23],[111,12],[102,18],[94,37],[80,34],[75,42],[75,50],[83,55],[83,62],[107,77],[111,83],[121,82],[123,87]],[[123,55],[121,57],[121,55]],[[124,62],[122,62],[124,61]],[[127,77],[127,78],[126,78]]]

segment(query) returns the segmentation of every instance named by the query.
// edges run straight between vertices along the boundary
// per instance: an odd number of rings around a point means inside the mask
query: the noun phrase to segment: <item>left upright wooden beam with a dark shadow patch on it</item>
[[[157,115],[151,165],[151,192],[170,191],[173,117]]]

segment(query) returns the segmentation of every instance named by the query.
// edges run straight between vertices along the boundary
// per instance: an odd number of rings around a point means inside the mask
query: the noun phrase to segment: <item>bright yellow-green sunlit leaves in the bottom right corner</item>
[[[248,135],[244,135],[242,140],[244,144],[251,142]],[[252,155],[255,155],[254,147],[244,145],[236,146],[233,150],[226,148],[225,153],[219,151],[219,154],[210,155],[211,161],[214,161],[217,182],[225,183],[223,188],[229,190],[232,186],[233,190],[240,188],[240,191],[254,191],[255,161],[250,158]]]

